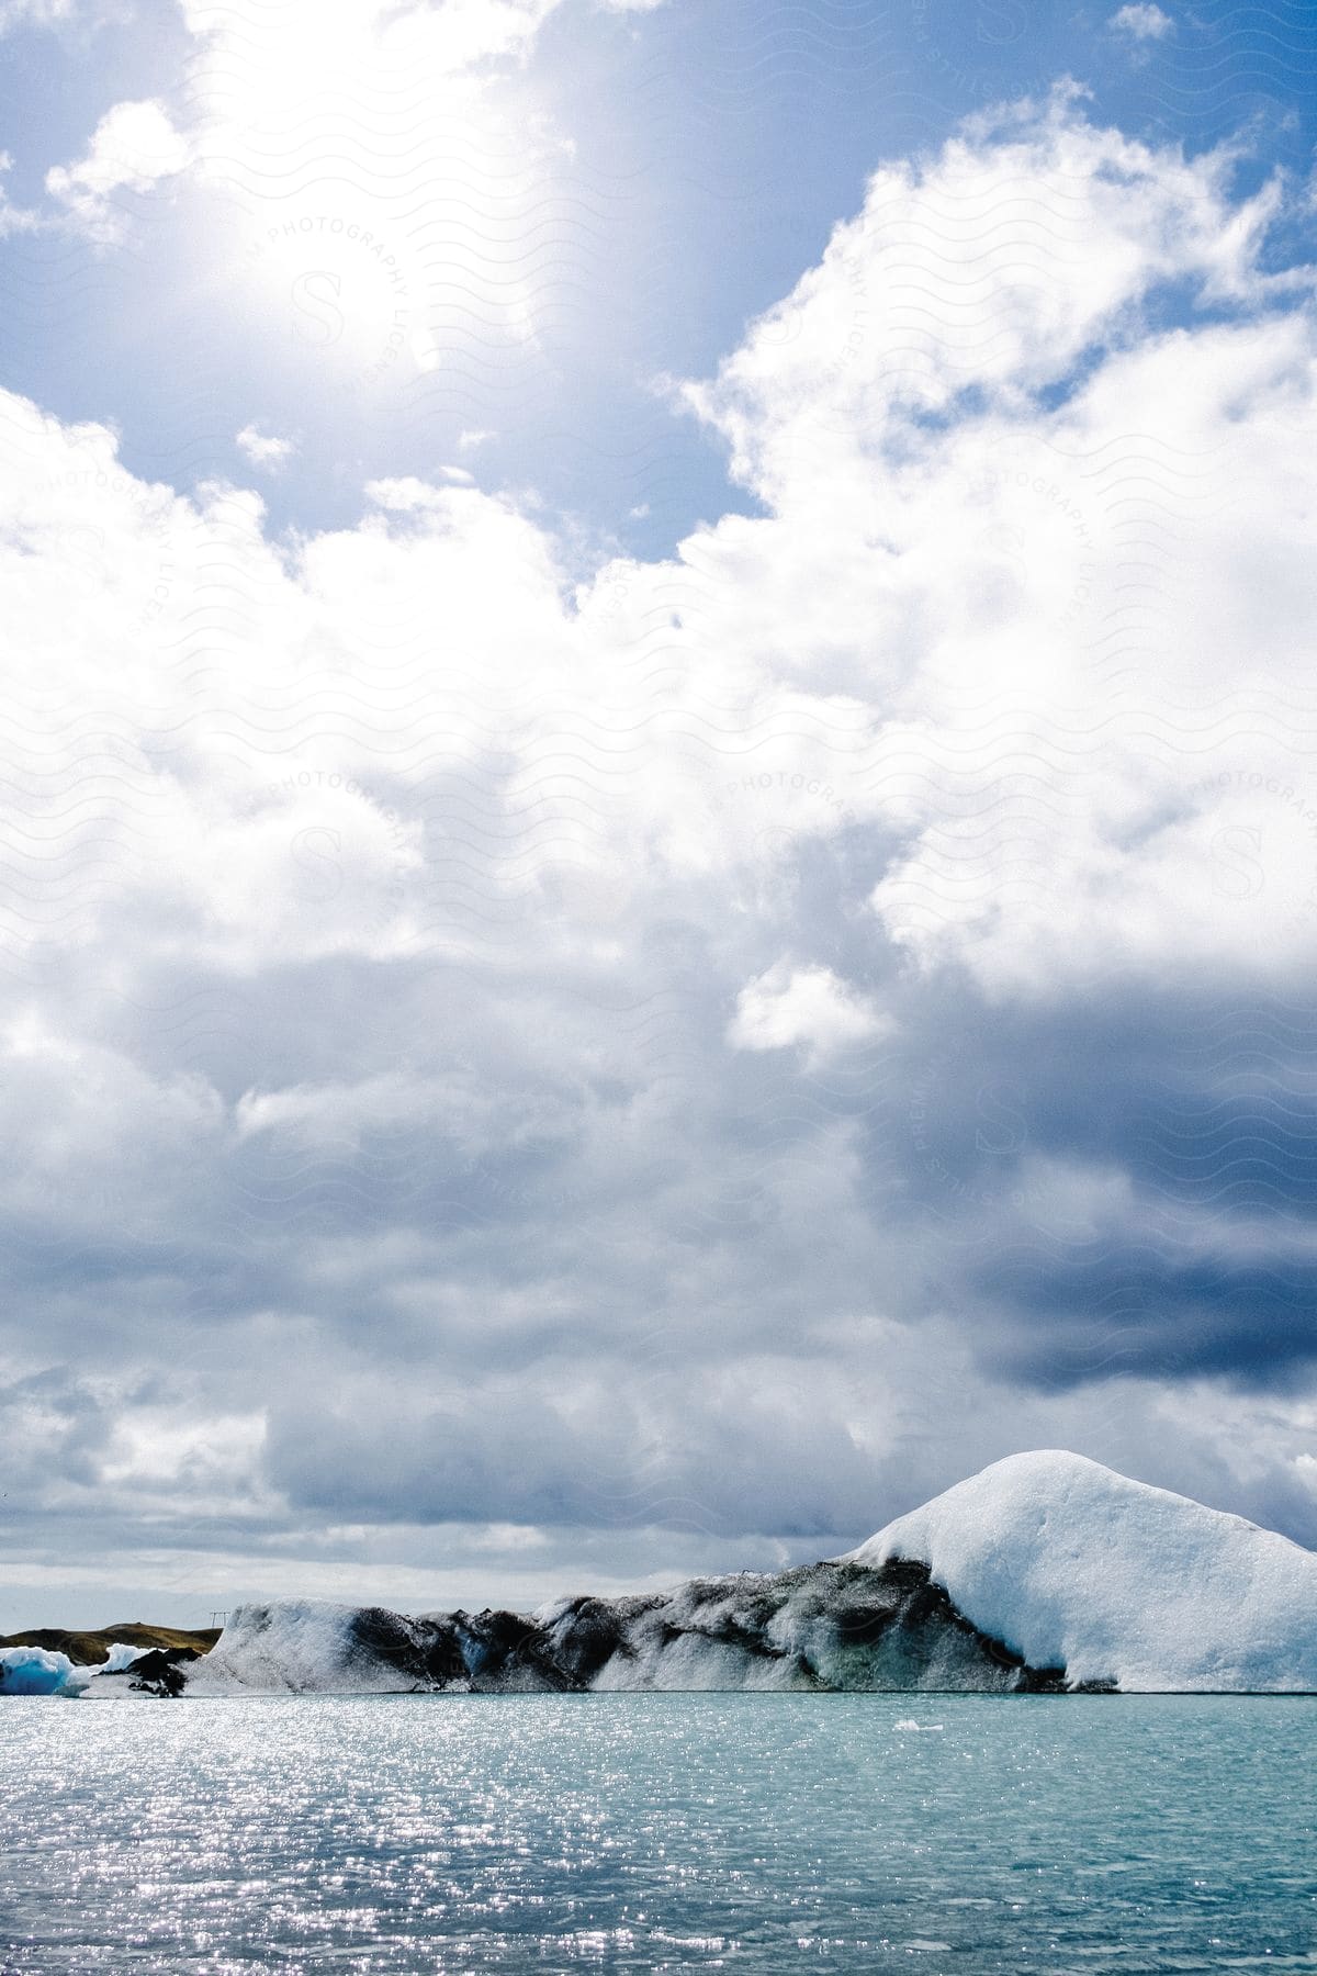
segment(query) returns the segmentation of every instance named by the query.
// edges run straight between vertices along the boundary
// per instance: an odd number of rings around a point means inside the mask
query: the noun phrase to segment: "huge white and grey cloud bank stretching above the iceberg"
[[[685,391],[762,512],[586,579],[6,399],[34,1571],[107,1476],[225,1583],[561,1581],[1031,1442],[1317,1531],[1317,348],[1234,166],[1060,93],[883,168]]]

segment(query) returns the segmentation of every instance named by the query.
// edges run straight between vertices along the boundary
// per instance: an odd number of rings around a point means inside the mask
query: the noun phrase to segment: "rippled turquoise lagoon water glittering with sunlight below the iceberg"
[[[0,1703],[0,1970],[1317,1968],[1317,1699]]]

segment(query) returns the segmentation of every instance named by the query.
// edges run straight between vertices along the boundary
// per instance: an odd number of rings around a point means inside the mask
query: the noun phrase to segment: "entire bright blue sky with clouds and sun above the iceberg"
[[[0,1632],[1317,1543],[1315,55],[0,0]]]

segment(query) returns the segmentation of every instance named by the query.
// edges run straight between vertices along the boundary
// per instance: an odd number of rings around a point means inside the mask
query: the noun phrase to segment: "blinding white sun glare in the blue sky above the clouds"
[[[535,342],[567,146],[517,55],[545,10],[192,10],[217,273],[292,362],[369,391]]]

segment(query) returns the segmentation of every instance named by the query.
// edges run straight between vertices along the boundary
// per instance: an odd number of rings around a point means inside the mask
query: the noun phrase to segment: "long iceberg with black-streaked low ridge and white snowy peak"
[[[1015,1454],[847,1557],[533,1614],[241,1606],[188,1693],[1317,1689],[1317,1555]]]

